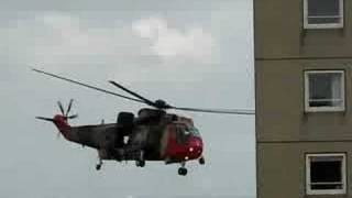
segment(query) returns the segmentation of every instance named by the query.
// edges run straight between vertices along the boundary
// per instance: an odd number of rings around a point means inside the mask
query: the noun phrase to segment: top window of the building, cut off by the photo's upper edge
[[[343,28],[343,0],[304,0],[305,29]]]

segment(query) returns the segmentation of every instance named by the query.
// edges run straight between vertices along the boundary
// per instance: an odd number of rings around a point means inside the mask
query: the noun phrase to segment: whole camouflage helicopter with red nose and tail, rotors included
[[[251,110],[218,110],[198,109],[170,106],[164,100],[152,101],[141,95],[123,87],[116,81],[109,81],[119,89],[135,98],[127,97],[99,87],[90,86],[56,74],[40,69],[32,69],[61,80],[69,81],[79,86],[95,89],[108,95],[117,96],[128,100],[150,106],[141,109],[136,116],[132,112],[120,112],[116,123],[101,123],[96,125],[72,127],[68,120],[75,119],[77,114],[69,114],[73,107],[70,99],[65,111],[61,101],[57,102],[61,114],[54,118],[36,117],[36,119],[53,122],[59,133],[66,140],[89,146],[98,151],[99,162],[96,169],[99,170],[102,161],[134,161],[139,167],[144,167],[146,161],[162,161],[165,164],[179,163],[178,175],[187,175],[185,167],[187,161],[197,160],[205,164],[204,142],[199,131],[190,118],[167,113],[169,109],[182,111],[229,113],[229,114],[253,114]]]

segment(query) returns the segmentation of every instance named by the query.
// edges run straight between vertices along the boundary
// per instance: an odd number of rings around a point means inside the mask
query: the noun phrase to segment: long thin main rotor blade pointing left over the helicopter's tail
[[[77,80],[68,79],[68,78],[63,77],[63,76],[58,76],[58,75],[54,75],[54,74],[51,74],[51,73],[46,73],[44,70],[40,70],[40,69],[32,69],[32,70],[34,70],[36,73],[41,73],[41,74],[47,75],[47,76],[52,76],[54,78],[58,78],[58,79],[62,79],[62,80],[65,80],[65,81],[69,81],[72,84],[76,84],[76,85],[80,85],[80,86],[84,86],[84,87],[87,87],[87,88],[90,88],[90,89],[95,89],[95,90],[98,90],[98,91],[101,91],[101,92],[105,92],[105,94],[109,94],[109,95],[113,95],[113,96],[117,96],[117,97],[120,97],[120,98],[124,98],[124,99],[129,99],[129,100],[132,100],[132,101],[145,103],[145,101],[143,101],[143,100],[138,100],[135,98],[131,98],[131,97],[127,97],[127,96],[123,96],[123,95],[119,95],[117,92],[112,92],[112,91],[109,91],[109,90],[106,90],[106,89],[101,89],[99,87],[90,86],[90,85],[87,85],[87,84],[84,84],[84,82],[80,82],[80,81],[77,81]]]

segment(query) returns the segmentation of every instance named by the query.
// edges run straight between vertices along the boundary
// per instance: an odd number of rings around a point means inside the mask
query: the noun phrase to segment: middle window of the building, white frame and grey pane
[[[305,111],[344,111],[344,72],[305,72]]]

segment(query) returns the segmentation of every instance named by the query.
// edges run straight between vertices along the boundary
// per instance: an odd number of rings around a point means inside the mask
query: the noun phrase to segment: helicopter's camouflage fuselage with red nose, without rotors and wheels
[[[118,123],[70,127],[59,114],[53,120],[65,139],[98,150],[101,160],[169,164],[197,160],[202,154],[201,136],[189,122],[140,123],[123,135],[123,127]],[[118,142],[120,135],[123,135],[122,144]]]

